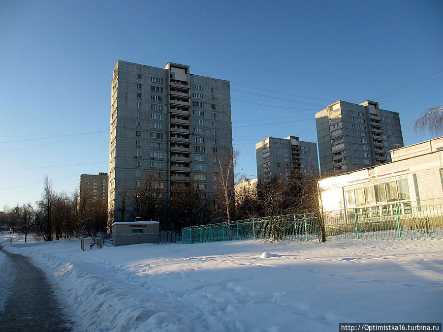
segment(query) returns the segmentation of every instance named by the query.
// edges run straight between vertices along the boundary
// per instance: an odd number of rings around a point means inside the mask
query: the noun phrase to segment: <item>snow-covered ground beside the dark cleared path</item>
[[[3,246],[47,272],[78,331],[338,331],[349,322],[443,321],[443,241]]]

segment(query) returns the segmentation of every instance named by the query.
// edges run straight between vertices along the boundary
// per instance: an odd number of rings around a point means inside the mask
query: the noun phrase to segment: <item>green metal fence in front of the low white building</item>
[[[361,240],[443,239],[443,204],[385,204],[324,214],[326,238]],[[182,228],[182,243],[281,238],[317,241],[319,228],[309,213],[253,218]]]

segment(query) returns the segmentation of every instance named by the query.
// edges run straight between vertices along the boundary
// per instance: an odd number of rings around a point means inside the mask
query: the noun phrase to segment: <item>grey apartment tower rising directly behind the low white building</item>
[[[336,101],[316,113],[322,174],[336,175],[391,161],[403,147],[400,117],[379,103]]]

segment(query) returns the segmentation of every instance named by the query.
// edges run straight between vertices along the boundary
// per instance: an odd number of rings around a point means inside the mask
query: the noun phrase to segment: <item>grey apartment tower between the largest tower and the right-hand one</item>
[[[267,137],[255,144],[255,155],[259,181],[288,178],[293,169],[318,173],[316,143],[300,141],[296,136]]]

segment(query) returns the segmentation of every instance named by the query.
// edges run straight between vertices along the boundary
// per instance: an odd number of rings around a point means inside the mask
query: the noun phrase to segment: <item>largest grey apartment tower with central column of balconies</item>
[[[192,183],[213,200],[218,158],[231,153],[229,81],[177,63],[117,62],[109,156],[109,211],[116,220],[119,192],[140,185],[147,173],[167,199],[174,187]]]

